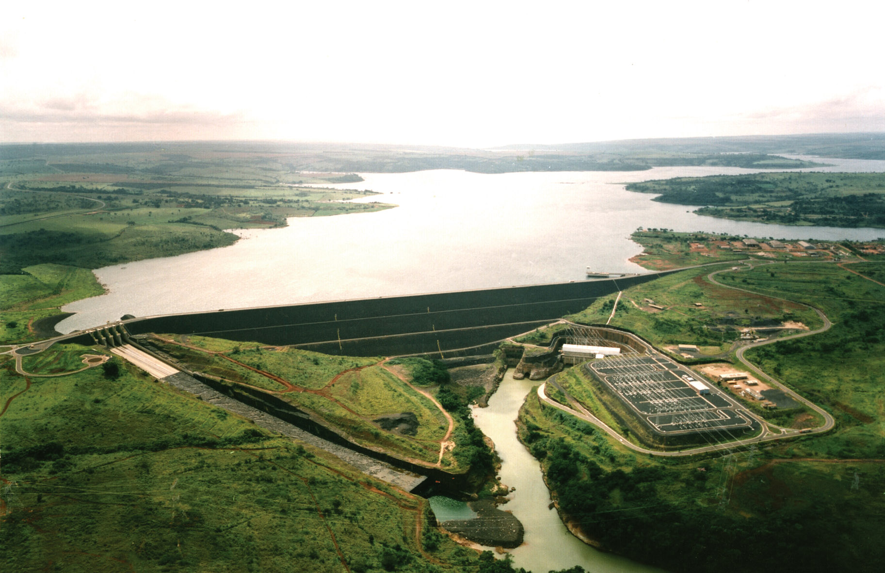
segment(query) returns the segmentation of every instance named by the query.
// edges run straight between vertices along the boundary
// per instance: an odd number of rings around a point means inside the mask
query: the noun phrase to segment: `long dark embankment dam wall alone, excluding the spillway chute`
[[[577,313],[596,298],[674,271],[482,290],[259,306],[122,320],[128,334],[150,332],[226,338],[347,356],[492,352],[499,341]],[[118,323],[119,324],[119,323]],[[103,327],[98,327],[101,335]],[[66,340],[96,344],[93,332]],[[117,337],[99,337],[111,341]]]

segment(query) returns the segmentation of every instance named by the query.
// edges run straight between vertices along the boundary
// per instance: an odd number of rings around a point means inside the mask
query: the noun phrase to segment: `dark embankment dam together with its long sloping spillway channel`
[[[506,337],[580,312],[609,297],[675,271],[570,283],[463,290],[387,298],[363,298],[289,306],[127,317],[55,339],[105,345],[115,353],[142,352],[167,360],[135,342],[150,333],[218,337],[347,356],[426,354],[453,358],[489,354]],[[128,348],[131,345],[132,351]],[[128,359],[127,359],[128,360]],[[162,364],[161,364],[162,366]],[[141,367],[144,368],[144,367]],[[178,368],[178,367],[175,367]],[[460,491],[468,475],[418,466],[360,445],[311,414],[258,389],[213,381],[196,372],[154,375],[181,390],[250,418],[268,430],[314,440],[315,445],[364,468],[382,480],[421,495],[435,489]],[[435,485],[445,484],[445,485]]]

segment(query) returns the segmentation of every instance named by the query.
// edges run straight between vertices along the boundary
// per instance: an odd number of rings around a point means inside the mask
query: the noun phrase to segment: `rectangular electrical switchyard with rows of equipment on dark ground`
[[[701,395],[689,384],[698,376],[663,356],[612,356],[584,368],[660,434],[750,428],[750,420],[714,384],[701,380],[710,391]]]

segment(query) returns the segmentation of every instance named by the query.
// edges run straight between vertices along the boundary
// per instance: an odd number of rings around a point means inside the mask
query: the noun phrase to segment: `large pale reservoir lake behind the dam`
[[[820,171],[885,171],[885,161],[827,159]],[[557,283],[599,271],[643,272],[638,227],[788,239],[858,240],[885,229],[787,227],[726,221],[651,201],[619,183],[741,174],[728,167],[640,172],[474,174],[436,170],[362,174],[336,185],[374,190],[399,205],[379,213],[295,218],[289,227],[237,231],[236,244],[96,270],[110,292],[65,306],[61,332],[124,314],[146,316],[342,298]]]

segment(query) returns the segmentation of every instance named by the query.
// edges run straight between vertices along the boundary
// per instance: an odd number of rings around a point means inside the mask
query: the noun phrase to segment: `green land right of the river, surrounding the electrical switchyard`
[[[668,252],[659,250],[664,263],[680,256]],[[542,460],[566,521],[618,553],[672,570],[780,570],[789,561],[806,571],[873,571],[885,562],[881,544],[869,535],[885,524],[885,286],[867,280],[882,282],[883,263],[784,259],[757,260],[753,268],[740,265],[716,277],[752,292],[709,283],[705,275],[715,266],[625,290],[612,324],[656,345],[715,343],[711,329],[723,321],[743,327],[790,319],[819,328],[817,315],[797,303],[812,305],[833,322],[831,329],[746,356],[827,409],[835,430],[722,457],[658,459],[623,449],[530,394],[520,412],[520,438]],[[649,308],[644,298],[665,310]],[[636,308],[640,301],[647,310]],[[613,297],[597,301],[573,318],[604,322],[612,303]],[[594,413],[620,427],[573,371],[559,376]],[[770,415],[786,425],[813,422],[796,419],[807,412]]]

